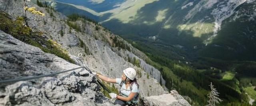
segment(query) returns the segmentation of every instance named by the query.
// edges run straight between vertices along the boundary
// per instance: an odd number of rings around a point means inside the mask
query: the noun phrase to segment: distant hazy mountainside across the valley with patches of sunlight
[[[241,57],[242,54],[256,53],[252,50],[256,48],[253,44],[256,23],[255,0],[103,0],[98,4],[93,1],[86,1],[87,4],[83,4],[84,2],[79,1],[58,0],[54,6],[57,11],[66,15],[72,13],[65,12],[70,9],[91,17],[126,39],[142,41],[134,39],[132,35],[154,40],[155,44],[159,44],[154,46],[156,48],[163,44],[170,45],[166,49],[176,48],[174,45],[178,44],[184,47],[182,50],[192,54],[198,53],[199,56],[221,60],[256,60],[254,55]],[[108,4],[107,6],[112,8],[100,7],[102,4]],[[62,5],[70,7],[64,10]],[[242,25],[250,30],[237,30],[236,25]],[[243,36],[242,39],[240,36]],[[239,52],[238,48],[245,48],[244,52]],[[219,56],[222,53],[219,49],[228,54],[226,58]],[[217,54],[207,52],[209,50]]]

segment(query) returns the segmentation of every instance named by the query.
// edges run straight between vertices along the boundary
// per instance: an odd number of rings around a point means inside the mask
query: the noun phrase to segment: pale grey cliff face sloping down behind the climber
[[[6,0],[0,0],[0,6],[7,5],[3,6],[2,10],[8,12],[13,17],[17,17],[24,15],[24,12],[20,11],[23,9],[22,1],[23,0],[11,0],[11,2],[9,2]],[[34,26],[32,30],[44,32],[46,34],[45,36],[48,36],[48,38],[52,38],[59,44],[62,44],[62,47],[66,48],[70,54],[77,55],[82,53],[83,56],[81,59],[84,60],[84,63],[90,67],[91,70],[97,71],[98,73],[108,77],[118,78],[121,77],[123,69],[127,67],[134,67],[142,73],[142,77],[137,77],[142,97],[167,93],[167,91],[164,91],[164,88],[159,84],[160,78],[162,79],[160,71],[144,62],[143,59],[148,57],[138,49],[132,47],[130,44],[131,51],[133,52],[124,49],[118,50],[118,47],[112,48],[108,43],[106,43],[105,39],[108,39],[106,36],[114,35],[110,32],[104,31],[103,27],[98,26],[100,29],[96,31],[94,23],[88,21],[86,24],[82,24],[78,21],[78,25],[81,24],[81,28],[84,28],[84,32],[86,33],[76,32],[66,24],[64,20],[67,17],[61,13],[51,11],[54,15],[54,17],[51,17],[50,13],[46,12],[46,8],[38,7],[36,4],[33,4],[28,0],[26,0],[26,5],[28,7],[36,7],[37,10],[45,13],[44,17],[34,15],[29,12],[27,13],[27,17],[31,19],[29,20],[29,26]],[[61,30],[64,32],[63,36],[60,35]],[[95,39],[95,37],[97,37],[98,40]],[[90,55],[86,54],[84,48],[81,48],[80,45],[78,45],[80,43],[78,39],[83,41],[85,46],[88,48],[88,51],[90,51]],[[124,42],[128,44],[128,42]],[[131,58],[135,57],[140,60],[140,67],[127,62],[125,58],[128,56]],[[147,75],[150,77],[147,77]],[[164,79],[162,79],[162,85],[165,85]],[[116,87],[119,88],[117,85]]]

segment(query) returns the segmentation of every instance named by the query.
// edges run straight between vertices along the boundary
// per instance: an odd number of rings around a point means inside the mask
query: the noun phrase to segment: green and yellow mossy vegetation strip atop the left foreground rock
[[[65,49],[61,48],[60,44],[46,37],[42,37],[42,32],[33,32],[30,27],[25,26],[23,17],[17,17],[15,20],[12,20],[7,13],[0,12],[0,30],[22,42],[36,46],[46,53],[55,54],[60,58],[74,63],[74,60],[68,56],[68,52]]]

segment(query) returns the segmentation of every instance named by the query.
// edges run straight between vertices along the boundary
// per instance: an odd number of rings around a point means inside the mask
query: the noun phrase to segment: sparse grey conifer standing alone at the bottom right
[[[211,91],[209,92],[209,94],[207,94],[207,97],[209,98],[209,100],[207,100],[208,104],[206,104],[206,106],[215,106],[216,104],[219,104],[223,100],[221,100],[218,97],[220,93],[218,93],[218,91],[214,88],[214,85],[212,85],[212,82],[209,86],[211,88]]]

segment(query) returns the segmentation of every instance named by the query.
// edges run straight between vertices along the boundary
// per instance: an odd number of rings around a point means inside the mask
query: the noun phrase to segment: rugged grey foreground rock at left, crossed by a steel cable
[[[49,74],[77,66],[0,31],[0,80]],[[0,83],[0,106],[112,106],[95,77],[76,69],[52,77]]]

